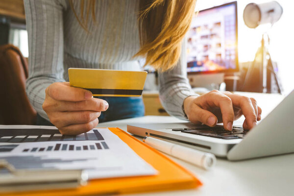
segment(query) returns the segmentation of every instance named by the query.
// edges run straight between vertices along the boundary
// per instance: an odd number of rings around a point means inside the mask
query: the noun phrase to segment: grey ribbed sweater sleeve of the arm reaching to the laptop
[[[183,111],[184,99],[198,96],[187,78],[186,39],[183,40],[182,52],[176,66],[167,72],[159,73],[159,98],[166,111],[177,118],[187,120]]]

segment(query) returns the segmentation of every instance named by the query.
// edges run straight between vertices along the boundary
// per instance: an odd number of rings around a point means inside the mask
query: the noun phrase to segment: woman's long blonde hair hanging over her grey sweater
[[[73,9],[73,0],[69,1]],[[80,19],[73,9],[79,24],[86,30],[90,11],[95,21],[95,2],[80,1]],[[189,30],[195,4],[196,0],[140,0],[138,19],[141,48],[134,57],[145,57],[145,65],[159,71],[172,69],[179,60],[181,41]]]

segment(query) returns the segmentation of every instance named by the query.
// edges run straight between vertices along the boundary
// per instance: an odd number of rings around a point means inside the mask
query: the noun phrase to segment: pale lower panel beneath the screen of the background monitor
[[[202,74],[188,74],[188,79],[192,88],[199,88],[199,91],[205,88],[208,91],[220,90],[224,73],[202,73]]]

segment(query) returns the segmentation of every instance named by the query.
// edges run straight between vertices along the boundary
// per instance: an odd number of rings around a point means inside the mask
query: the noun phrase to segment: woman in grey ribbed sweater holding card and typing
[[[105,122],[144,115],[142,98],[93,98],[69,85],[67,69],[159,70],[160,98],[169,114],[193,123],[232,130],[260,120],[253,98],[212,91],[196,95],[179,60],[196,0],[25,0],[29,38],[27,95],[38,124],[53,123],[76,135]],[[101,115],[101,112],[102,115]],[[99,120],[98,120],[99,118]]]

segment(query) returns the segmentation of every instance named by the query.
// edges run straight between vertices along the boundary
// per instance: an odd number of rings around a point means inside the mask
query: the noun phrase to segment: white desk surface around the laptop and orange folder
[[[243,94],[245,95],[245,94]],[[246,94],[254,97],[263,109],[265,117],[281,100],[279,95]],[[119,127],[126,130],[129,123],[175,123],[183,122],[174,117],[145,116],[107,123],[98,127]],[[217,159],[210,171],[202,170],[187,162],[169,156],[202,182],[198,189],[133,194],[132,196],[293,196],[294,195],[294,154],[278,155],[246,161],[230,162]]]

